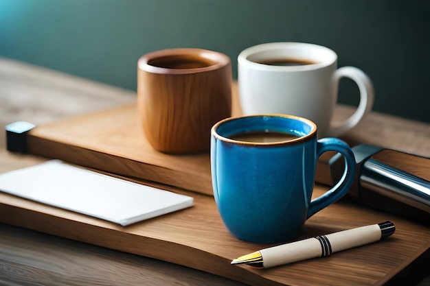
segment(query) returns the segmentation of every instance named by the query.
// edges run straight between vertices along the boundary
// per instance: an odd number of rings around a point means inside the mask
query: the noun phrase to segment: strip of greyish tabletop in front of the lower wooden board
[[[1,285],[242,285],[189,267],[14,226],[1,226],[0,244],[8,246],[0,248]]]

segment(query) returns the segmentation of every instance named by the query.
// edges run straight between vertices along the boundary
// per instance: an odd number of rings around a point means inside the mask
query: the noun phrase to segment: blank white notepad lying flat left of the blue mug
[[[49,160],[0,174],[0,191],[122,226],[192,206],[194,199]]]

